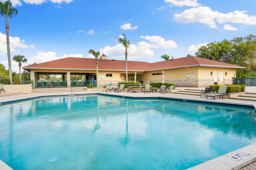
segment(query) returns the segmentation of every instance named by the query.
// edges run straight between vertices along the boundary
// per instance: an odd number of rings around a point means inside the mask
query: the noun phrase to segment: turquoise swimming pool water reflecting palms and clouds
[[[0,106],[13,169],[186,169],[256,142],[252,109],[109,96]]]

